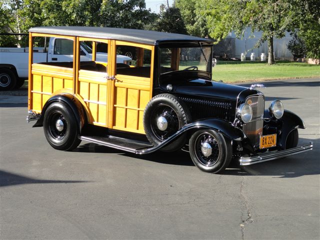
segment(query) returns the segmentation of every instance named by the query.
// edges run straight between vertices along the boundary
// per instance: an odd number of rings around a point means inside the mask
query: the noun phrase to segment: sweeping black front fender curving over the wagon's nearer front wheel
[[[166,146],[170,142],[174,141],[174,139],[176,139],[182,133],[198,130],[201,128],[214,129],[220,132],[225,137],[229,138],[230,140],[241,141],[245,138],[245,134],[243,133],[243,131],[240,128],[234,126],[232,123],[218,118],[206,118],[188,123],[184,125],[182,128],[180,128],[178,131],[176,131],[172,136],[162,141],[159,145],[152,146],[149,148],[136,149],[135,153],[146,154],[156,151],[161,147]]]

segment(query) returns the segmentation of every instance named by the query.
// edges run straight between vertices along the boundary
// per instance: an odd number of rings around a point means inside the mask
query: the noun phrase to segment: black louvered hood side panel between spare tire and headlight
[[[192,119],[205,117],[217,117],[227,121],[233,121],[234,119],[234,109],[232,109],[230,102],[190,97],[180,97],[180,99],[189,107]]]

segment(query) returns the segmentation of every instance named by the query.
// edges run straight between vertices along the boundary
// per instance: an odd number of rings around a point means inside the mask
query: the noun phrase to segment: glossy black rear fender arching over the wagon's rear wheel
[[[87,120],[86,114],[84,112],[84,109],[83,109],[81,102],[76,97],[74,97],[73,95],[71,95],[69,93],[61,93],[58,95],[51,96],[45,102],[39,119],[35,122],[35,124],[32,127],[43,126],[44,113],[45,113],[46,109],[48,108],[48,106],[53,102],[63,102],[71,108],[71,110],[74,114],[74,117],[76,119],[76,122],[78,123],[77,125],[79,127],[79,132],[81,132],[81,129]]]

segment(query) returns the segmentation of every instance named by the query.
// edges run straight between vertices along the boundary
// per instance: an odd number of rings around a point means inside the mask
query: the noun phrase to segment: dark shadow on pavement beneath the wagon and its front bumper
[[[273,177],[299,177],[303,175],[320,174],[318,155],[319,149],[315,146],[320,144],[320,139],[300,138],[298,145],[307,144],[313,141],[313,150],[302,152],[297,155],[288,156],[286,158],[275,159],[271,161],[261,162],[250,166],[239,167],[232,161],[228,168],[220,174],[222,175],[265,175]],[[76,152],[98,152],[98,153],[116,153],[126,155],[147,161],[153,161],[163,164],[194,166],[189,153],[178,150],[174,152],[156,151],[146,155],[137,155],[130,152],[98,145],[95,143],[86,143],[78,146],[73,151]],[[196,169],[196,166],[194,166]]]

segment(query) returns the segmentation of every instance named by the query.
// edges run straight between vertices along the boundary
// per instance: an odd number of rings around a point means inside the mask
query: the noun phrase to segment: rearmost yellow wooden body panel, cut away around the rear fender
[[[29,98],[35,112],[41,112],[43,105],[55,91],[73,91],[72,68],[33,63],[31,74]]]

